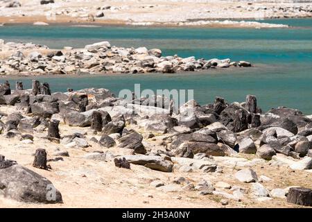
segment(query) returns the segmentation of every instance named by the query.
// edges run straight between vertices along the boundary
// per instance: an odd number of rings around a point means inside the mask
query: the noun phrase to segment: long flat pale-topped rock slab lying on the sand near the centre
[[[156,171],[172,172],[173,162],[153,155],[124,155],[131,164],[138,164]]]

